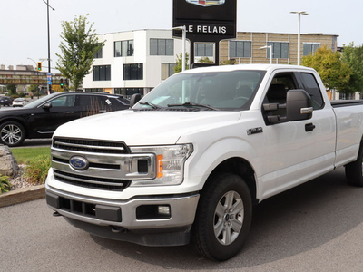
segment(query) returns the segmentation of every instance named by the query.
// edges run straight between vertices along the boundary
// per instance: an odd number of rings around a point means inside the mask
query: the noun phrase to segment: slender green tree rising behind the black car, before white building
[[[63,55],[56,54],[59,58],[56,68],[70,80],[74,90],[78,90],[82,87],[84,76],[91,71],[94,54],[103,47],[104,42],[98,42],[87,15],[75,17],[74,22],[62,22],[62,28],[63,41],[59,48]]]

